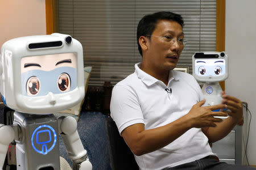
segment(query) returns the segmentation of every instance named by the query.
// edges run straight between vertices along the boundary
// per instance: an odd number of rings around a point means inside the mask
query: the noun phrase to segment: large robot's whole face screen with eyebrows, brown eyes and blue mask
[[[20,60],[22,95],[46,96],[77,87],[77,58],[73,53],[23,57]]]

